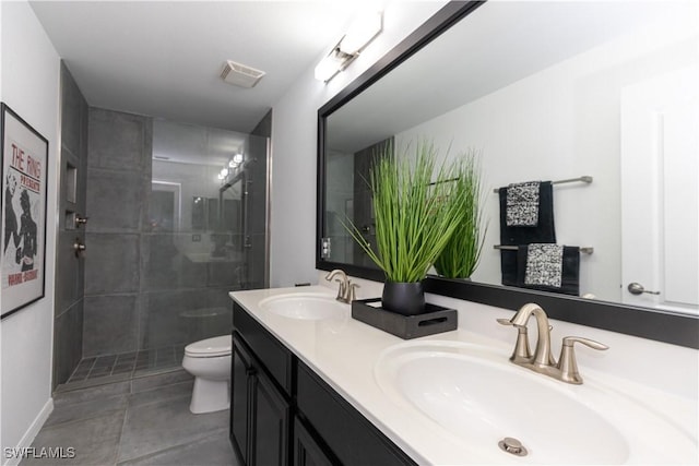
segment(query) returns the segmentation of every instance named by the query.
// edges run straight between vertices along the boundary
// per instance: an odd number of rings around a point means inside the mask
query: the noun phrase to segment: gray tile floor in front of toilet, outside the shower
[[[27,457],[21,466],[237,465],[228,410],[191,414],[192,385],[191,375],[178,370],[58,392],[32,446],[73,447],[75,456]]]

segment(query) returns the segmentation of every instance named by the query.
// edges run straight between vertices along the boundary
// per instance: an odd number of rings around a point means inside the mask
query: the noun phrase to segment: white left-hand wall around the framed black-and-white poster
[[[0,10],[0,98],[49,141],[46,296],[0,322],[0,446],[4,449],[28,446],[52,408],[60,60],[27,2],[2,1]],[[19,462],[3,453],[3,464]]]

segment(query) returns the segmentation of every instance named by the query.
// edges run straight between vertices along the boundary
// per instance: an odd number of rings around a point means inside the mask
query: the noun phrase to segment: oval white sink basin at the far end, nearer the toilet
[[[344,315],[343,311],[348,309],[348,304],[335,300],[334,295],[293,292],[263,299],[260,308],[288,319],[317,321]]]

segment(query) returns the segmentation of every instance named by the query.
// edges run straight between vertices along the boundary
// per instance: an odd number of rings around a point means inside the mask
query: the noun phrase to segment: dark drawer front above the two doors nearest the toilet
[[[283,390],[292,393],[292,353],[237,302],[233,304],[233,327]]]

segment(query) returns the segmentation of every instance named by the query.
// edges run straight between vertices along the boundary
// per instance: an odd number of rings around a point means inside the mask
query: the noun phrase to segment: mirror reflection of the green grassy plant
[[[447,278],[471,278],[478,265],[487,230],[481,202],[481,164],[475,151],[460,157],[455,178],[451,195],[463,215],[457,230],[435,261],[435,270]]]

